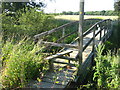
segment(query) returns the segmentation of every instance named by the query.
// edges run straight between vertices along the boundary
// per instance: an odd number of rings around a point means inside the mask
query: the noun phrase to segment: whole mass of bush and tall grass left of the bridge
[[[33,36],[56,27],[54,18],[35,9],[17,11],[14,16],[2,14],[2,64],[0,83],[5,89],[25,87],[48,69],[44,56],[36,51]],[[23,39],[24,38],[24,39]],[[41,49],[42,50],[42,49]]]

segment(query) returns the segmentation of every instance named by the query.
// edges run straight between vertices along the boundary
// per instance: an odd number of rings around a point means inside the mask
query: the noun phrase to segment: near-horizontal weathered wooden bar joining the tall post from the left
[[[63,44],[63,43],[54,43],[54,42],[45,42],[45,41],[41,41],[39,44],[45,44],[47,46],[65,47],[65,48],[78,48],[78,46],[76,46],[76,45]]]

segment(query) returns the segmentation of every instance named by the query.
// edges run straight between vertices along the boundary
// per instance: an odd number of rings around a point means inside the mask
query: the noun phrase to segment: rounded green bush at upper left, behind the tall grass
[[[3,40],[15,39],[34,35],[43,31],[47,31],[55,27],[53,24],[54,18],[44,14],[42,11],[37,12],[35,9],[26,8],[26,12],[18,11],[15,16],[2,15]]]

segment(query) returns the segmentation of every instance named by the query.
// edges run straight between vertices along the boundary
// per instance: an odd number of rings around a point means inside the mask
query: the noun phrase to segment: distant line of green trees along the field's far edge
[[[79,15],[79,12],[63,11],[62,13],[54,13],[55,15]],[[103,16],[116,16],[117,13],[113,10],[102,10],[102,11],[88,11],[85,15],[103,15]]]

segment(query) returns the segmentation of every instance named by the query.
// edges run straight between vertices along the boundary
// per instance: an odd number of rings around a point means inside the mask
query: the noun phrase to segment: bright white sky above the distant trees
[[[45,12],[79,11],[80,0],[46,0]],[[85,0],[85,11],[114,10],[114,0]]]

